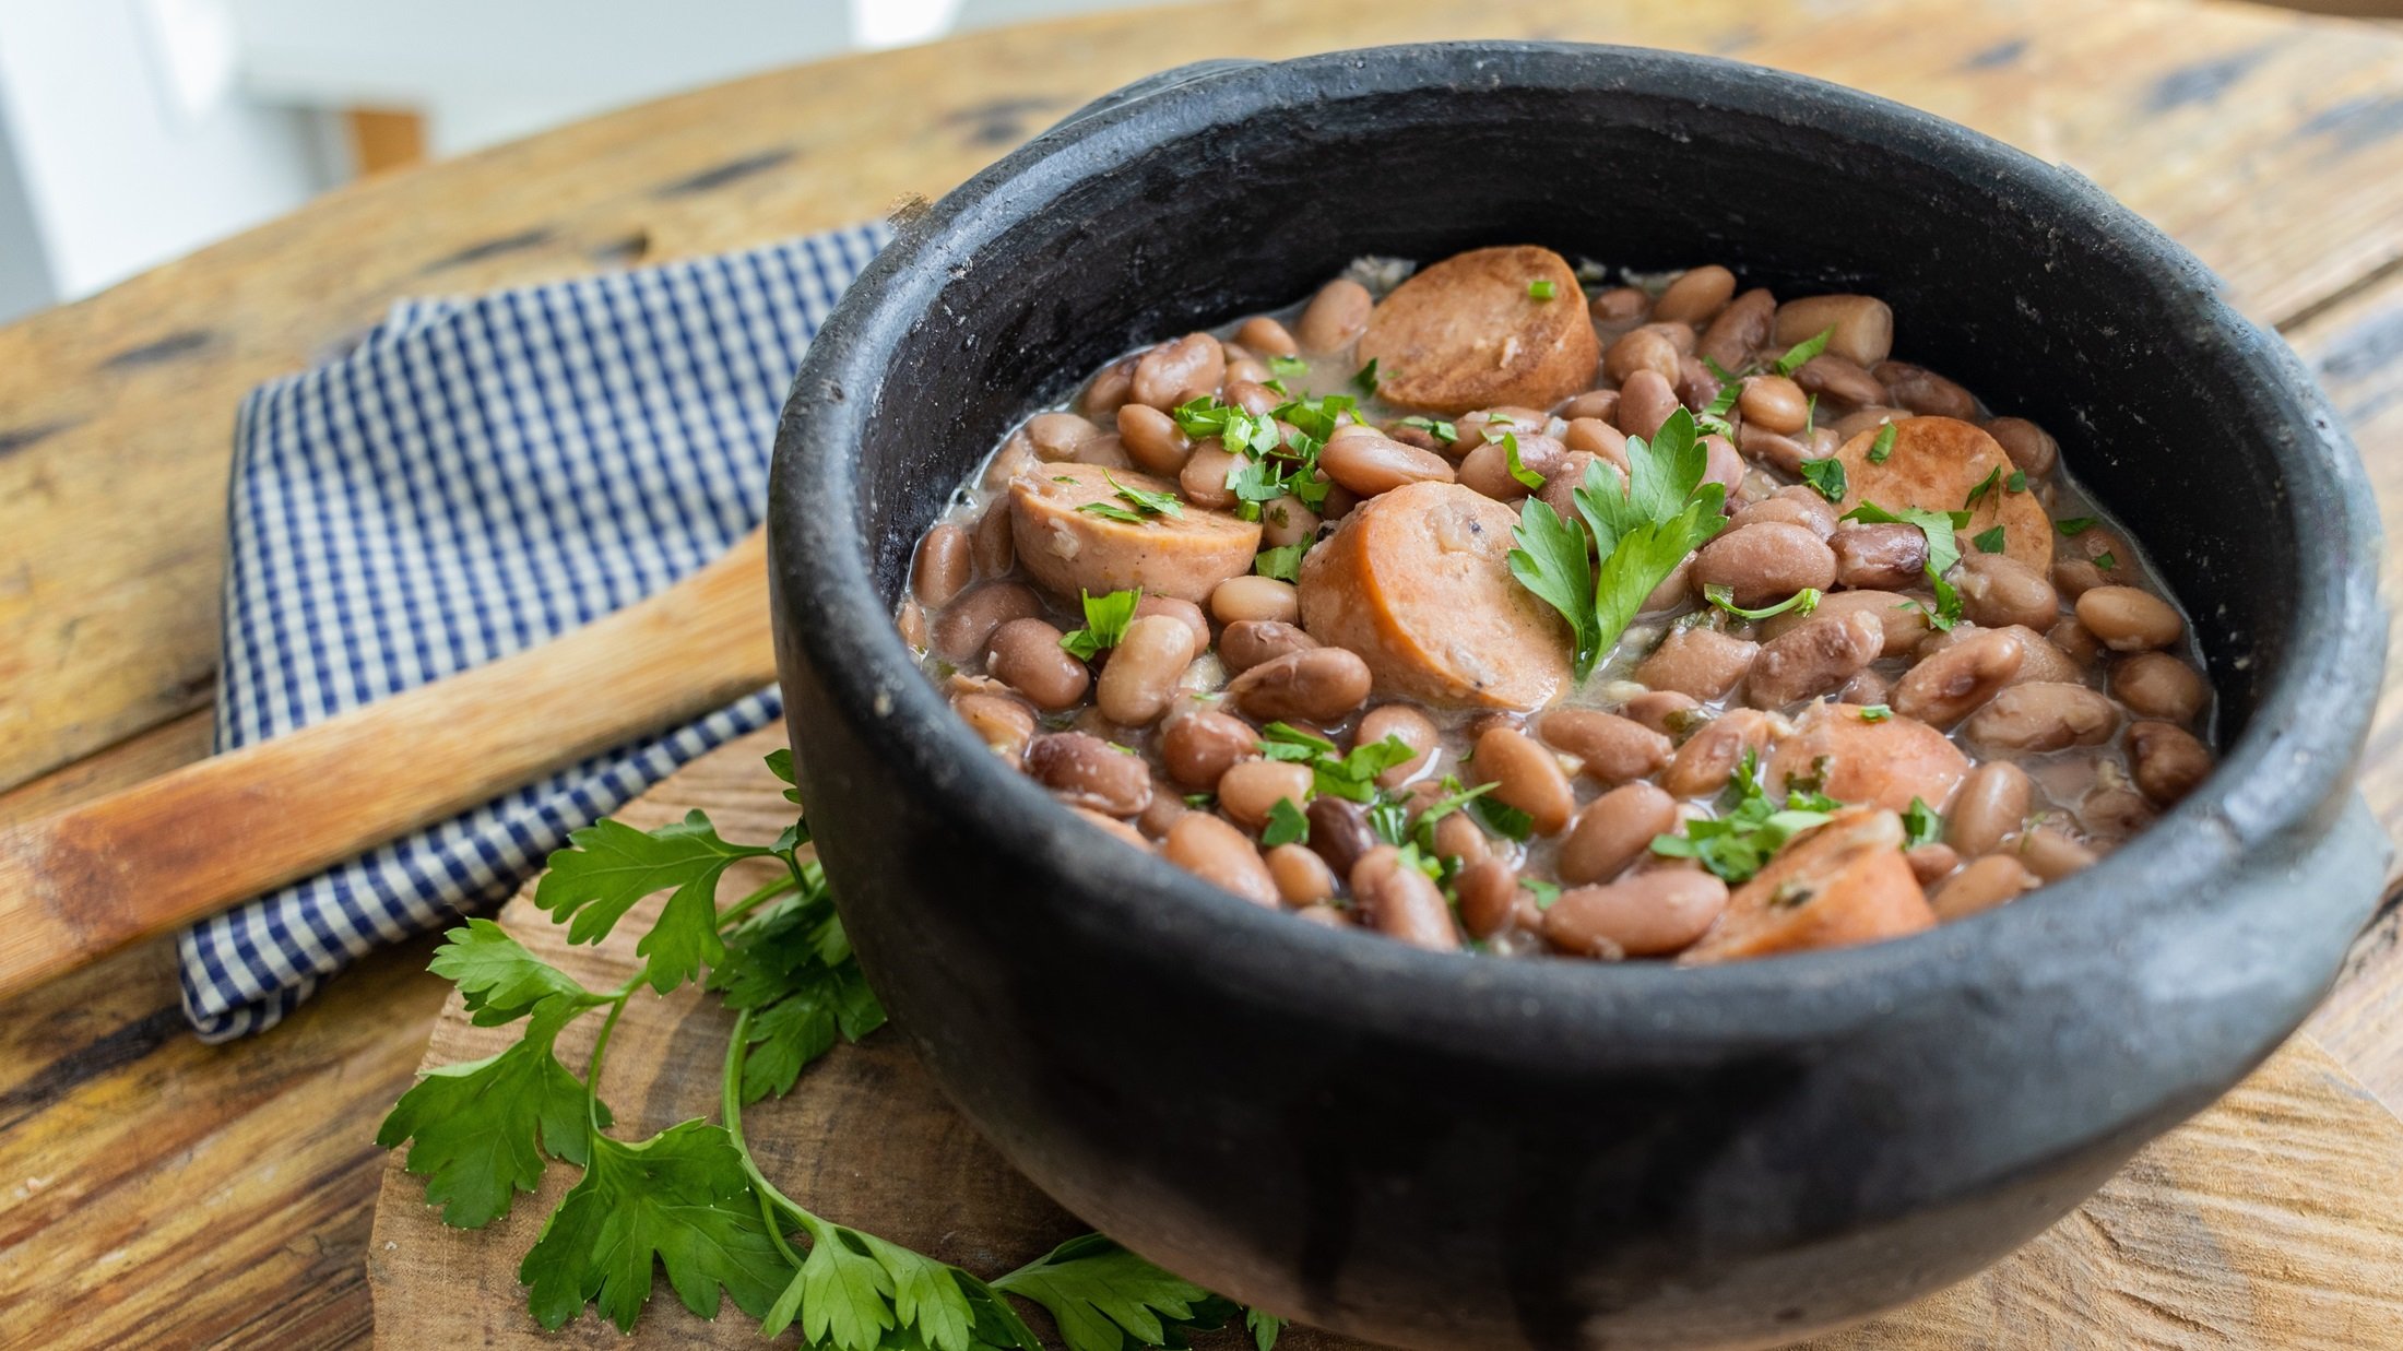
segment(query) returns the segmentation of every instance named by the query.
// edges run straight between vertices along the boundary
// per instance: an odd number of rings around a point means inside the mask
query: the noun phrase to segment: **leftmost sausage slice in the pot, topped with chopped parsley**
[[[1180,601],[1206,601],[1211,587],[1252,570],[1259,522],[1192,502],[1175,517],[1139,512],[1139,522],[1079,510],[1089,502],[1134,510],[1117,495],[1120,486],[1177,493],[1165,478],[1098,464],[1038,464],[1012,478],[1009,534],[1019,563],[1062,596],[1074,596],[1079,587],[1096,596],[1141,587],[1146,596]]]

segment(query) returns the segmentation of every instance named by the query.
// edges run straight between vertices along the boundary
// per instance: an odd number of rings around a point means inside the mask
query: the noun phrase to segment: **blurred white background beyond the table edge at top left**
[[[0,0],[0,322],[360,173],[1127,0]]]

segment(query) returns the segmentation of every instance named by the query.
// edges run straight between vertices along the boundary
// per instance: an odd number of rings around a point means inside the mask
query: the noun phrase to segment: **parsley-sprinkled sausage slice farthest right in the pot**
[[[1843,462],[1843,510],[1877,502],[1889,512],[1918,507],[1922,512],[1968,512],[1968,524],[1958,534],[1978,536],[2002,526],[2002,553],[2026,563],[2038,575],[2052,570],[2052,517],[2035,493],[2011,493],[2009,481],[2016,466],[2004,454],[2002,442],[1958,418],[1903,418],[1894,425],[1894,447],[1884,462],[1872,462],[1877,428],[1870,428],[1836,450]],[[1997,476],[1978,505],[1968,495]]]

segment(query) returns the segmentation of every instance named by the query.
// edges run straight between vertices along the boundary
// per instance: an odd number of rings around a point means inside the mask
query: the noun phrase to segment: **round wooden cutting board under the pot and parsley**
[[[699,808],[731,839],[769,839],[791,822],[762,757],[771,728],[658,784],[620,820],[656,827]],[[726,880],[726,897],[764,873]],[[531,892],[531,887],[529,887]],[[519,894],[500,923],[536,957],[586,986],[622,983],[656,899],[618,938],[567,947],[565,930]],[[594,1024],[560,1038],[579,1065]],[[731,1017],[692,990],[637,995],[610,1043],[601,1091],[615,1135],[634,1139],[716,1115]],[[512,1029],[471,1026],[452,995],[425,1067],[500,1051]],[[1081,1231],[1014,1173],[944,1103],[904,1038],[887,1029],[839,1046],[791,1096],[743,1113],[762,1168],[827,1219],[879,1233],[978,1274],[1028,1262]],[[485,1231],[445,1228],[423,1180],[384,1163],[368,1245],[375,1332],[384,1346],[625,1346],[586,1315],[562,1334],[526,1317],[517,1262],[574,1180],[553,1166],[536,1197]],[[2122,1349],[2122,1346],[2403,1346],[2403,1120],[2353,1082],[2309,1036],[2290,1041],[2228,1099],[2143,1149],[2093,1200],[1980,1276],[1814,1346],[1846,1349]],[[740,1315],[706,1325],[654,1288],[634,1346],[757,1346]],[[1233,1341],[1216,1341],[1233,1344]],[[1295,1327],[1293,1351],[1363,1344]]]

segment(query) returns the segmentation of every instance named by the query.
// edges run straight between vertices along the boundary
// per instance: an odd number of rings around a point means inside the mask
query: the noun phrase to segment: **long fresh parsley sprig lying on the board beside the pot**
[[[769,767],[791,784],[791,755]],[[572,942],[598,942],[637,901],[670,892],[637,942],[642,971],[615,990],[589,990],[493,921],[449,930],[433,969],[457,981],[478,1026],[524,1022],[524,1034],[500,1055],[430,1070],[401,1094],[377,1144],[409,1147],[406,1168],[425,1178],[425,1200],[459,1228],[509,1214],[519,1192],[541,1188],[550,1159],[584,1171],[517,1269],[526,1308],[548,1329],[594,1305],[632,1332],[666,1272],[692,1313],[716,1317],[733,1301],[762,1334],[795,1329],[812,1351],[1043,1351],[1012,1301],[1048,1310],[1069,1351],[1187,1346],[1189,1332],[1235,1313],[1257,1351],[1271,1351],[1281,1320],[1238,1310],[1098,1233],[985,1281],[776,1190],[743,1139],[743,1108],[791,1091],[836,1041],[884,1024],[827,877],[800,856],[807,841],[807,822],[795,822],[774,844],[728,844],[702,813],[651,832],[622,822],[574,832],[536,901],[570,926]],[[718,906],[716,885],[743,858],[776,858],[783,873]],[[735,1012],[723,1125],[694,1118],[649,1139],[606,1135],[613,1115],[598,1084],[618,1019],[644,986],[668,993],[702,966],[704,988]],[[577,1077],[555,1048],[594,1010],[606,1012]]]

